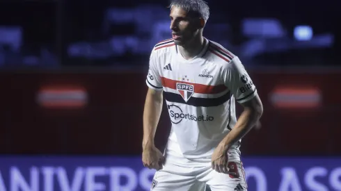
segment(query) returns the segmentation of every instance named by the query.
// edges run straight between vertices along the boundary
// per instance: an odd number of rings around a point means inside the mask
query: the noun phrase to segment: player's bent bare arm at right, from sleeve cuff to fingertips
[[[263,106],[258,95],[245,103],[241,103],[241,105],[244,107],[244,111],[241,113],[236,125],[220,142],[212,154],[212,168],[217,172],[228,173],[228,156],[226,154],[228,149],[230,149],[232,144],[235,144],[235,142],[243,138],[257,124],[262,116]]]

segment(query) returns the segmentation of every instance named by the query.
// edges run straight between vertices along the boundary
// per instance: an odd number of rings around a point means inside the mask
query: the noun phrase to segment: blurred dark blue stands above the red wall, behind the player
[[[303,1],[287,11],[279,7],[283,2],[264,1],[266,6],[257,12],[237,2],[229,3],[229,11],[215,1],[208,3],[205,37],[245,65],[338,65],[333,57],[338,37],[331,24],[321,24],[323,19],[333,23],[332,17],[300,15]],[[167,1],[138,1],[134,6],[109,0],[1,1],[0,14],[0,68],[144,67],[154,44],[170,38]]]

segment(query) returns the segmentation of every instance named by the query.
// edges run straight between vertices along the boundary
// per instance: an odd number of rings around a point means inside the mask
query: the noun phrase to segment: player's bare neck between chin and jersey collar
[[[196,57],[204,46],[204,38],[203,35],[198,35],[198,37],[194,38],[187,44],[183,46],[179,46],[179,51],[184,57],[184,59],[189,60],[191,58]]]

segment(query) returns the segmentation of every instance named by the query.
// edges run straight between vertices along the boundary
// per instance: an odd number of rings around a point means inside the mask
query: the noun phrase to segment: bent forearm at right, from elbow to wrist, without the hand
[[[232,128],[232,131],[225,136],[220,144],[223,144],[226,150],[230,149],[235,142],[243,138],[244,135],[246,135],[246,133],[255,126],[261,116],[262,110],[252,110],[249,108],[244,109],[243,113],[241,113],[237,120],[237,123]]]

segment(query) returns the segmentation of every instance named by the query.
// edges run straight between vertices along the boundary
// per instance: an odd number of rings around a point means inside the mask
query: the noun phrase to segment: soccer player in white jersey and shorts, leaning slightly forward
[[[143,112],[145,167],[157,169],[151,190],[247,190],[241,138],[262,115],[262,102],[241,61],[203,37],[203,0],[170,3],[173,38],[152,49]],[[163,97],[172,128],[164,153],[154,146]],[[235,101],[244,107],[239,119]]]

